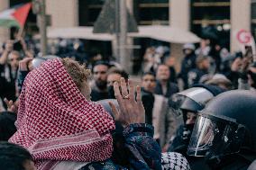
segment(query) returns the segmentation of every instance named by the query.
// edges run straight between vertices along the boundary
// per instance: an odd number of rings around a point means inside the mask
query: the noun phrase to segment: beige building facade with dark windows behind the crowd
[[[92,26],[105,0],[45,0],[52,27]],[[0,10],[30,0],[0,0]],[[139,25],[165,24],[195,32],[204,37],[215,32],[219,42],[231,51],[239,49],[233,32],[244,29],[256,35],[255,0],[126,0]],[[36,31],[36,17],[29,15],[28,31]],[[30,30],[31,29],[31,30]],[[7,32],[7,33],[6,33]],[[212,36],[215,36],[213,34]],[[0,40],[8,30],[0,29]],[[174,45],[176,46],[176,45]],[[178,48],[178,46],[177,46]]]

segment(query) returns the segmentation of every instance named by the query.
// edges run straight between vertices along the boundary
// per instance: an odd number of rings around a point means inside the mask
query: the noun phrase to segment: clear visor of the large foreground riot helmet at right
[[[200,113],[191,135],[187,155],[205,157],[206,153],[217,156],[238,152],[241,134],[241,131],[238,134],[237,123]]]

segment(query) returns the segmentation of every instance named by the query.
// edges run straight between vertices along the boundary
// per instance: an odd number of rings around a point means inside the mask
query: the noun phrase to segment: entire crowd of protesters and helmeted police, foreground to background
[[[19,42],[0,52],[0,169],[255,168],[251,51],[184,44],[177,72],[169,49],[150,47],[134,85],[79,48],[41,57]]]

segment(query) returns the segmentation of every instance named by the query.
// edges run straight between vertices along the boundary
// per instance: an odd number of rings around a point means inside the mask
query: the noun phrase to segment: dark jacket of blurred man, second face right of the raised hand
[[[176,93],[178,93],[178,85],[169,82],[167,85],[167,92],[166,94],[163,94],[160,82],[157,82],[157,85],[155,87],[155,94],[164,95],[165,97],[169,98],[172,94]]]

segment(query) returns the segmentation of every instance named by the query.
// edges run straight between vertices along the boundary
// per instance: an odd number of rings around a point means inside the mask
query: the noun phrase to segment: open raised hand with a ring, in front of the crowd
[[[129,88],[129,91],[127,89]],[[114,83],[114,96],[120,107],[120,111],[116,109],[114,103],[109,103],[114,113],[115,121],[120,121],[123,127],[133,123],[145,123],[145,110],[142,104],[141,87],[136,86],[136,100],[134,86],[131,80],[126,85],[124,78],[121,78],[121,91],[117,82]]]

